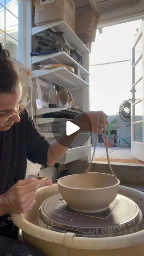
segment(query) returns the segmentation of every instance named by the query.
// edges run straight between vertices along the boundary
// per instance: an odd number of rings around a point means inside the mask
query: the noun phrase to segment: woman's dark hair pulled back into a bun
[[[16,94],[19,89],[20,77],[10,59],[10,53],[2,49],[0,43],[0,94]]]

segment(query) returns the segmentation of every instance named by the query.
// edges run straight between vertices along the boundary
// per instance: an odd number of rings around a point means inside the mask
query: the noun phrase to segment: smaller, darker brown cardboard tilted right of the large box
[[[84,43],[94,42],[99,14],[95,10],[76,13],[75,32]]]

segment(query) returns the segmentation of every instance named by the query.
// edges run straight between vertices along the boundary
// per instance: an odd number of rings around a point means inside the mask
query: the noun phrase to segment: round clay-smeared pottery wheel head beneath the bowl
[[[99,213],[80,213],[69,208],[60,194],[46,199],[38,210],[42,228],[74,232],[76,236],[108,237],[137,232],[142,227],[142,212],[131,199],[117,195],[109,209]]]

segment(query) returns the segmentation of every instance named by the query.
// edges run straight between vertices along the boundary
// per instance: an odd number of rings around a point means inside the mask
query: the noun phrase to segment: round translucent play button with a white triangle
[[[54,109],[52,109],[54,111]],[[72,121],[77,115],[82,114],[85,124],[91,127],[91,120],[88,115],[80,109],[75,108],[64,108],[59,110],[58,108],[54,112],[48,112],[43,114],[43,122],[39,125],[41,132],[44,134],[46,139],[51,143],[54,140],[57,140],[59,144],[66,148],[75,148],[83,146],[89,140],[91,136],[91,130],[82,130],[82,124],[78,123],[80,127]],[[82,122],[82,121],[81,121]],[[67,136],[70,136],[74,132],[77,132],[74,136],[74,140],[67,140]],[[66,135],[66,137],[65,137]],[[71,142],[71,143],[70,143]]]

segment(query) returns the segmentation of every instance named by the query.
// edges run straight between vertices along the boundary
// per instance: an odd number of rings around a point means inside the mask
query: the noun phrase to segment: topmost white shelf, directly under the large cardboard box
[[[74,31],[70,28],[70,26],[68,26],[68,24],[64,20],[49,23],[42,26],[33,27],[32,35],[37,34],[48,28],[52,28],[52,30],[54,31],[64,32],[63,36],[68,41],[73,50],[76,49],[81,54],[90,53],[90,50],[86,47],[86,45],[80,40],[80,38],[74,33]]]

